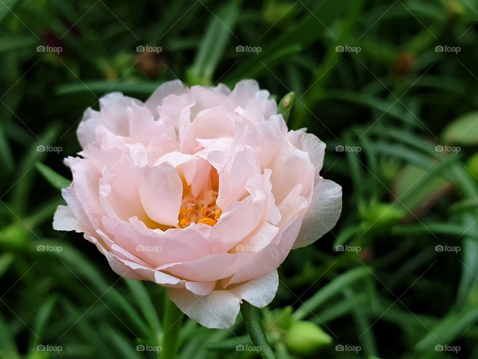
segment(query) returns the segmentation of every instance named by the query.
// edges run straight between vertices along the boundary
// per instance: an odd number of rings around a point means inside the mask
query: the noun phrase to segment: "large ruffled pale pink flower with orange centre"
[[[288,132],[268,97],[251,80],[106,95],[65,160],[53,227],[84,233],[120,276],[168,287],[206,327],[233,325],[242,299],[269,304],[277,267],[335,225],[342,190],[319,174],[325,144]]]

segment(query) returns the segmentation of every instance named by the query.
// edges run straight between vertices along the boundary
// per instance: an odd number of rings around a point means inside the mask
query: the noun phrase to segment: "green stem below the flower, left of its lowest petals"
[[[175,359],[178,351],[178,334],[181,329],[183,312],[168,298],[167,292],[164,298],[164,334],[162,351],[159,352],[162,358]]]

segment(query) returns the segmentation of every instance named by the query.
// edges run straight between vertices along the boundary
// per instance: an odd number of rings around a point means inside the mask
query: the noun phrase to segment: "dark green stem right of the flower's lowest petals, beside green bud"
[[[264,328],[262,327],[259,309],[243,300],[240,305],[240,313],[252,343],[259,349],[258,353],[260,356],[263,359],[275,359],[274,352],[267,341]]]

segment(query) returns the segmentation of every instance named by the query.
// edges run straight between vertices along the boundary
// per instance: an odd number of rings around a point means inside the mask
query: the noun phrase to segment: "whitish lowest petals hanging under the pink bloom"
[[[169,298],[189,318],[207,328],[230,328],[239,314],[242,299],[256,307],[265,307],[279,286],[277,270],[245,282],[238,287],[214,290],[199,296],[185,289],[169,288]]]

